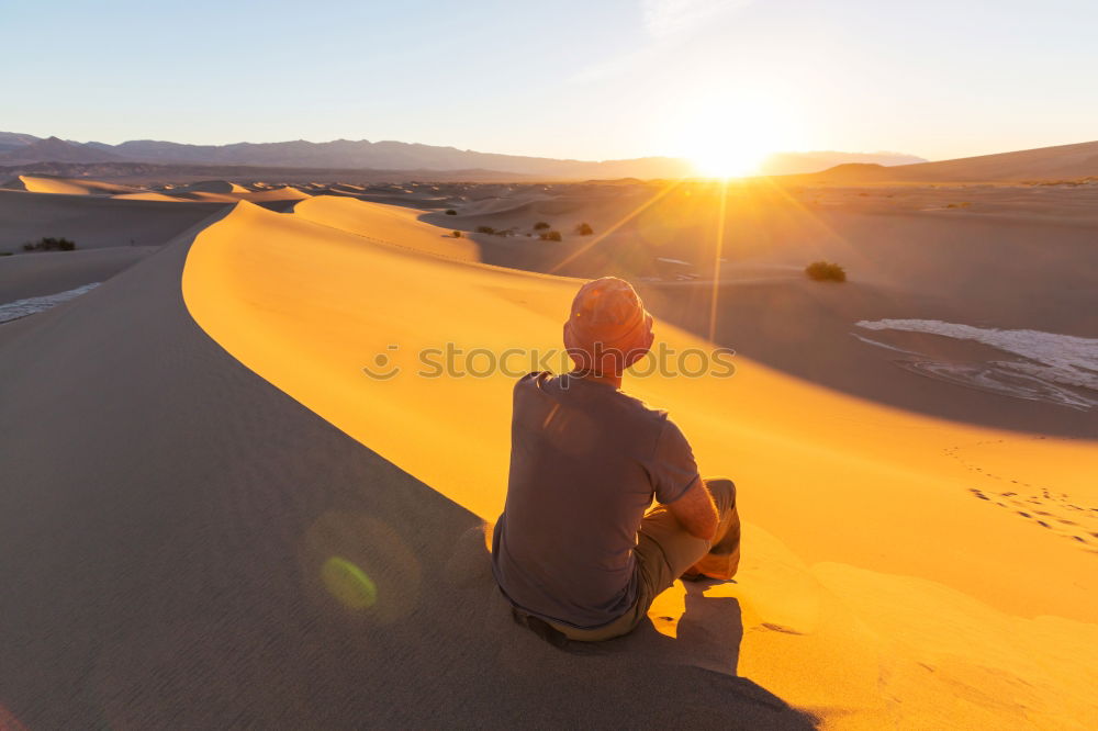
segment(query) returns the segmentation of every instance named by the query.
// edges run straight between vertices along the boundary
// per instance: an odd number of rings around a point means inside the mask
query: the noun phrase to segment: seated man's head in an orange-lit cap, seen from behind
[[[581,371],[620,375],[652,347],[652,316],[629,282],[603,277],[580,288],[564,323],[564,347]]]

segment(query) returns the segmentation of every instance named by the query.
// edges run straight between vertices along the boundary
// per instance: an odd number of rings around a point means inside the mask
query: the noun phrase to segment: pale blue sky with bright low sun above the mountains
[[[949,159],[1098,138],[1096,27],[1090,0],[0,0],[0,130]]]

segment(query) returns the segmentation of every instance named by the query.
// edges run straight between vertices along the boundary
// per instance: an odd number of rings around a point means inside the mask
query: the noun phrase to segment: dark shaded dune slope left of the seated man
[[[188,244],[0,325],[4,728],[808,728],[685,662],[701,636],[576,656],[512,623],[475,516],[199,329]]]

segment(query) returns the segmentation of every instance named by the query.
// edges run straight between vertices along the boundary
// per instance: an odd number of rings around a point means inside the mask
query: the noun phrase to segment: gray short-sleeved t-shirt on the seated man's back
[[[515,385],[507,503],[492,570],[531,615],[594,628],[637,597],[637,530],[653,495],[672,503],[698,480],[665,412],[612,385],[530,373]]]

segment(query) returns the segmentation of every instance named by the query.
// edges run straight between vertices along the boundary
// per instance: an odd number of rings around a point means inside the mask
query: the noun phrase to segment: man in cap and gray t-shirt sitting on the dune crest
[[[554,643],[625,634],[680,576],[728,580],[739,564],[732,482],[703,481],[666,413],[620,391],[652,341],[636,291],[605,277],[564,324],[575,370],[515,385],[492,570],[515,618]]]

